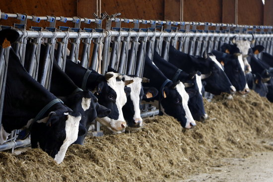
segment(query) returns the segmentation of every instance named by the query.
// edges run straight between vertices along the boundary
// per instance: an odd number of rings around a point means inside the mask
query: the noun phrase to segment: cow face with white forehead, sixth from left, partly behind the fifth
[[[207,114],[205,113],[204,102],[202,97],[202,81],[201,73],[198,72],[192,80],[188,80],[193,84],[192,87],[185,88],[186,92],[189,94],[188,106],[192,113],[194,120],[205,121],[207,119]]]

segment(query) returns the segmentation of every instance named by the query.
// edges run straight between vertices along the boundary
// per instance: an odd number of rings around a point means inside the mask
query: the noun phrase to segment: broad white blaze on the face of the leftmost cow
[[[77,140],[78,137],[78,128],[79,128],[79,121],[81,119],[81,116],[73,117],[71,115],[68,115],[68,119],[66,121],[66,139],[63,142],[63,145],[60,147],[59,152],[55,155],[54,160],[60,164],[63,162],[66,152],[68,150],[68,147]]]

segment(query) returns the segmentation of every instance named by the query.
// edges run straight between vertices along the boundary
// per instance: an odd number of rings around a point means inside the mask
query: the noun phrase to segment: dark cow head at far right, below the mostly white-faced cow
[[[246,73],[246,80],[249,88],[257,92],[261,97],[268,95],[268,87],[263,82],[263,78],[260,74]]]

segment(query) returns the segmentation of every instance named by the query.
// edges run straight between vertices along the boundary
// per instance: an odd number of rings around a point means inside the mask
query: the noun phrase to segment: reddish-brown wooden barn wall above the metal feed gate
[[[121,12],[121,17],[140,19],[180,20],[183,2],[184,21],[235,23],[235,0],[101,0],[101,11],[108,14]],[[0,9],[6,13],[34,15],[93,17],[97,0],[2,0]],[[230,4],[230,5],[229,5]],[[273,0],[238,0],[238,23],[273,25]],[[230,16],[229,16],[230,14]],[[14,20],[0,20],[0,24],[11,25]],[[17,20],[19,22],[19,20]],[[47,26],[28,21],[28,26]],[[57,26],[59,26],[57,24]],[[64,24],[72,26],[72,24]]]

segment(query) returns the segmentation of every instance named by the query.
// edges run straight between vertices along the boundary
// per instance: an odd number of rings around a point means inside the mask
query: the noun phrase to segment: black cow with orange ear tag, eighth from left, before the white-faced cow
[[[238,48],[237,48],[238,49]],[[239,51],[239,50],[237,50]],[[227,77],[237,91],[243,91],[246,86],[245,73],[242,70],[238,56],[240,53],[227,54],[216,50],[212,51],[212,54],[216,56],[217,61],[223,66]]]

